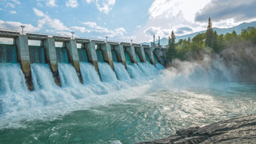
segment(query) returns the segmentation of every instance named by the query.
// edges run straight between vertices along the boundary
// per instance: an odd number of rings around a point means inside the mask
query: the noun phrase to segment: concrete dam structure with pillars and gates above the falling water
[[[48,36],[44,34],[20,34],[16,31],[1,30],[1,38],[13,38],[12,44],[0,44],[0,63],[20,63],[29,90],[33,90],[31,64],[48,64],[53,78],[61,86],[58,63],[72,64],[81,83],[80,62],[89,62],[99,73],[98,62],[106,62],[114,70],[114,62],[127,64],[148,62],[156,66],[164,66],[166,48],[160,45],[140,45],[135,43],[117,43],[87,38],[69,38],[65,36]],[[40,45],[29,45],[29,41],[37,41]],[[57,47],[57,43],[62,46]],[[77,45],[81,45],[78,48]]]

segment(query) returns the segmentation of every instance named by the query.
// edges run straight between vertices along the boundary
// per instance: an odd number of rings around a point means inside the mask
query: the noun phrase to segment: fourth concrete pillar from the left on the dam
[[[88,62],[92,63],[95,66],[95,70],[99,73],[99,66],[97,65],[97,53],[95,50],[95,43],[89,42],[82,45],[81,48],[86,49],[86,53],[88,55]]]

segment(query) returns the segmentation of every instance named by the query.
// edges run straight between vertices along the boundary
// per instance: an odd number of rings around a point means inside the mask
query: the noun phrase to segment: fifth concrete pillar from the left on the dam
[[[104,62],[109,63],[109,66],[114,70],[111,46],[109,43],[105,43],[101,46]]]

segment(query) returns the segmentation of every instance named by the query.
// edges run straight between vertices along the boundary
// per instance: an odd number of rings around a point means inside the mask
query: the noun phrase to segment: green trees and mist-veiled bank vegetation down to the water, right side
[[[256,29],[248,27],[241,34],[233,31],[231,34],[220,34],[213,31],[209,17],[205,33],[197,34],[194,38],[180,39],[175,42],[172,31],[168,38],[166,66],[173,66],[173,61],[200,62],[204,57],[222,59],[225,66],[238,75],[239,80],[256,82]],[[250,78],[248,78],[250,74]]]

